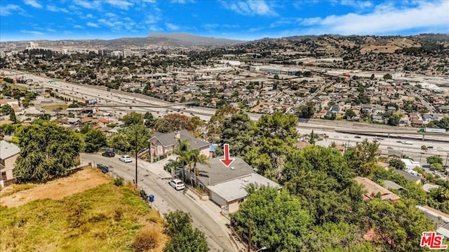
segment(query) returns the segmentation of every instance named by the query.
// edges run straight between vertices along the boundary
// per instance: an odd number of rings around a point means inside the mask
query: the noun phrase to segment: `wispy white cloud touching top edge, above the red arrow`
[[[222,1],[222,6],[240,15],[277,15],[264,0]]]

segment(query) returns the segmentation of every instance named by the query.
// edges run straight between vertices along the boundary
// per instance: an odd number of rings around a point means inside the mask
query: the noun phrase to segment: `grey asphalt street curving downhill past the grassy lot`
[[[81,162],[108,165],[110,172],[122,176],[126,181],[135,179],[135,160],[126,164],[119,161],[118,155],[114,158],[106,158],[98,154],[81,153]],[[144,165],[140,161],[138,162],[138,186],[143,188],[148,195],[154,195],[152,206],[161,214],[167,214],[177,209],[190,213],[194,227],[199,228],[206,235],[210,251],[236,251],[229,240],[227,230],[182,190],[177,191],[169,186],[169,177],[161,176],[163,174],[148,172]]]

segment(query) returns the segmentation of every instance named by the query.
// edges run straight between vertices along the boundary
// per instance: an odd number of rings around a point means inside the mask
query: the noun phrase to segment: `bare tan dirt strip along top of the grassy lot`
[[[0,205],[19,207],[33,200],[61,200],[68,195],[95,188],[95,186],[108,183],[109,181],[111,181],[111,177],[102,174],[99,169],[85,168],[65,178],[55,179],[44,184],[36,184],[34,188],[2,197],[4,193],[8,192],[8,188],[6,188],[0,193]]]

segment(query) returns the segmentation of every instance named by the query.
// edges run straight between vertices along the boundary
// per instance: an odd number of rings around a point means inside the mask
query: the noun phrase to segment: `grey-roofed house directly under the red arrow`
[[[233,213],[239,210],[240,204],[246,199],[248,193],[246,187],[250,184],[255,186],[270,186],[281,188],[278,183],[271,181],[260,174],[254,172],[241,158],[235,158],[229,167],[220,162],[220,158],[210,159],[210,167],[208,165],[198,164],[196,180],[198,186],[206,190],[210,200],[218,204],[224,211]],[[194,183],[194,172],[187,174],[187,179]]]

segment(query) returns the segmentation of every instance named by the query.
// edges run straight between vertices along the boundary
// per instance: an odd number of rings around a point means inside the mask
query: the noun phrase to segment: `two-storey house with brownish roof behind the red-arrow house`
[[[199,153],[209,157],[209,143],[194,138],[187,130],[180,130],[177,132],[161,133],[155,132],[149,142],[150,162],[159,160],[162,155],[173,153],[177,146],[178,139],[189,141],[189,146],[192,149],[199,149]]]

